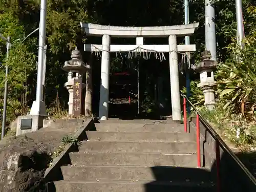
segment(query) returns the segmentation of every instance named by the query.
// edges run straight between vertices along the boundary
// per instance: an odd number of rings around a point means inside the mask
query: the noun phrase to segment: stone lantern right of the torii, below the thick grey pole
[[[204,93],[204,105],[209,110],[215,107],[215,86],[216,81],[214,80],[214,71],[217,68],[217,61],[211,59],[209,51],[204,51],[201,57],[202,61],[198,65],[192,66],[191,68],[200,73],[200,87]]]

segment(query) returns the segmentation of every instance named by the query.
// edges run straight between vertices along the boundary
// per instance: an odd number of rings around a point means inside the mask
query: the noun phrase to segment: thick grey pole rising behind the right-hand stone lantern
[[[217,60],[215,9],[210,2],[211,0],[205,0],[205,48],[210,51],[212,59]]]

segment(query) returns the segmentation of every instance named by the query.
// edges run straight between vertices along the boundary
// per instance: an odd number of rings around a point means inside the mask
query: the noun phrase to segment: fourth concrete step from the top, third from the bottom
[[[196,167],[196,154],[170,153],[69,153],[74,166],[182,166]]]

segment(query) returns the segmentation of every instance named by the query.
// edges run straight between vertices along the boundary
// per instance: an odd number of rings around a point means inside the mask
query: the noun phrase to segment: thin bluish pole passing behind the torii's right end
[[[188,7],[188,0],[184,0],[184,12],[185,12],[185,25],[189,24],[189,7]],[[185,36],[185,45],[189,45],[189,36]],[[186,96],[187,98],[190,97],[190,66],[189,66],[190,61],[188,60],[188,54],[186,54]],[[190,112],[190,106],[187,104],[187,112],[189,114]]]

